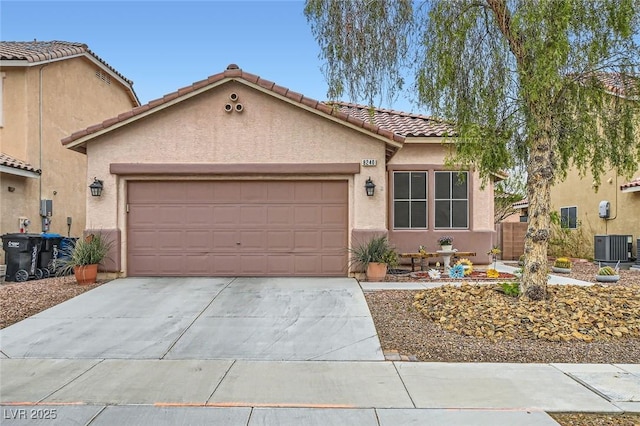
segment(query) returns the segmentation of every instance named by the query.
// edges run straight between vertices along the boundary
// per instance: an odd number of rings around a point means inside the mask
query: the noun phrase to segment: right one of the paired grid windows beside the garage
[[[469,183],[467,172],[435,172],[436,229],[469,227]]]

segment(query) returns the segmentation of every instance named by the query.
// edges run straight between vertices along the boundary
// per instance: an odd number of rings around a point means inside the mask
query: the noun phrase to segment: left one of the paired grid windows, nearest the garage
[[[393,227],[427,228],[427,172],[393,173]]]

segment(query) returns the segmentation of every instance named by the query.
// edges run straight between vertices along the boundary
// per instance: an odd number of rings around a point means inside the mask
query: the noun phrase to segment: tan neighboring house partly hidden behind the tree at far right
[[[638,102],[638,96],[624,93],[617,74],[602,74],[601,78],[612,96]],[[640,144],[640,135],[638,136]],[[601,205],[608,204],[608,214],[601,215]],[[552,209],[560,215],[563,227],[581,229],[593,244],[595,235],[631,235],[634,255],[637,256],[636,241],[640,238],[640,168],[629,180],[606,172],[596,185],[593,175],[587,172],[580,176],[571,169],[563,182],[551,188]],[[606,216],[606,217],[601,217]]]

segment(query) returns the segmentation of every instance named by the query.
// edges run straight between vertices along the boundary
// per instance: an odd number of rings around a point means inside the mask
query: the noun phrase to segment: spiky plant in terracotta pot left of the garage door
[[[101,234],[89,234],[76,241],[60,264],[57,273],[68,275],[71,272],[78,284],[92,284],[98,276],[98,264],[109,253],[110,244]]]

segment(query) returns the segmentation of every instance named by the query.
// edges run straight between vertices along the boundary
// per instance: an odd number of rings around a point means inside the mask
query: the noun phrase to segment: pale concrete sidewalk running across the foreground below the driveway
[[[636,364],[2,359],[0,377],[2,424],[43,410],[60,424],[243,425],[544,425],[555,424],[545,412],[640,412]]]

